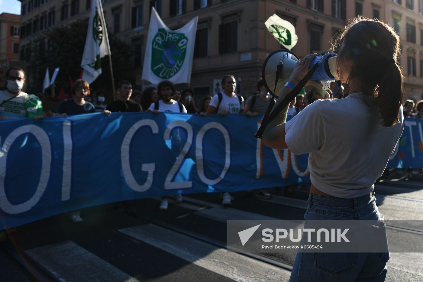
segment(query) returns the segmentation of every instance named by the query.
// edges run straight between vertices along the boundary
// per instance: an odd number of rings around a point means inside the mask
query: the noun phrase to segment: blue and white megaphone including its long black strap
[[[273,98],[270,101],[260,128],[255,133],[255,137],[262,138],[267,124],[269,124],[269,122],[272,121],[272,119],[274,119],[280,111],[286,108],[289,102],[291,102],[291,100],[299,94],[308,80],[318,80],[321,82],[323,87],[319,91],[319,94],[323,98],[326,96],[326,90],[330,88],[331,82],[338,81],[339,85],[341,82],[339,81],[339,75],[337,72],[337,57],[338,55],[335,53],[327,51],[313,58],[307,75],[305,75],[294,89],[292,89],[292,91],[287,94],[286,97],[284,97],[273,109],[273,106],[275,105],[274,98],[277,99],[279,97],[283,87],[299,61],[299,58],[291,51],[284,49],[270,53],[263,64],[262,78],[264,86]],[[340,85],[339,88],[341,88]]]

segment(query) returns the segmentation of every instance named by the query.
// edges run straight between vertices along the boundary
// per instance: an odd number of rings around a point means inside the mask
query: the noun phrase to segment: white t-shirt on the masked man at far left
[[[14,94],[11,94],[7,90],[0,90],[0,104],[13,96]],[[25,119],[26,118],[25,102],[28,98],[29,98],[29,94],[25,92],[21,92],[19,93],[18,96],[14,97],[13,99],[1,105],[0,106],[0,120]]]

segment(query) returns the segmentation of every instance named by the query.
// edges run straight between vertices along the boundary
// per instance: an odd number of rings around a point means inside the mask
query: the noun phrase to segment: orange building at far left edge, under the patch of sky
[[[19,58],[19,20],[19,15],[0,14],[0,59],[16,61]]]

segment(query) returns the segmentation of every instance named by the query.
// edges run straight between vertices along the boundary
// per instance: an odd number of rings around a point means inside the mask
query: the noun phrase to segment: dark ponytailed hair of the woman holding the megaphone
[[[399,122],[399,108],[404,101],[404,77],[397,63],[401,55],[399,43],[399,36],[388,24],[363,16],[350,20],[340,36],[332,41],[332,49],[338,50],[338,66],[345,59],[352,61],[347,82],[361,81],[361,89],[354,90],[373,97],[385,127]]]

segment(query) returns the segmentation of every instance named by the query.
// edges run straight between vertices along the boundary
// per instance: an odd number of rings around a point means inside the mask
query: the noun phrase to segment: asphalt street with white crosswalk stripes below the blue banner
[[[80,224],[65,214],[26,224],[1,244],[0,281],[288,281],[294,252],[231,253],[225,242],[227,219],[302,219],[309,185],[292,189],[269,188],[270,200],[236,192],[229,208],[218,193],[189,194],[167,211],[140,199],[136,216],[108,204],[82,210]],[[375,192],[385,219],[423,219],[423,176],[384,178]],[[388,226],[390,241],[404,232],[423,239],[406,221]],[[423,253],[390,255],[386,281],[423,281]]]

